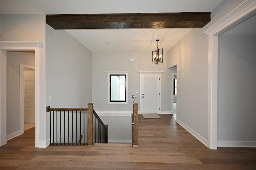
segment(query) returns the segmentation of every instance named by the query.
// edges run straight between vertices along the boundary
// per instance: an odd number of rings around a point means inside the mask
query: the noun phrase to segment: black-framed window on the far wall
[[[125,101],[125,75],[110,75],[110,101]]]

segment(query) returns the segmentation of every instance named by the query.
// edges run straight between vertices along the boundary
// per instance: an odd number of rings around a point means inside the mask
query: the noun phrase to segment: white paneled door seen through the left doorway
[[[35,70],[24,68],[24,123],[35,123]]]

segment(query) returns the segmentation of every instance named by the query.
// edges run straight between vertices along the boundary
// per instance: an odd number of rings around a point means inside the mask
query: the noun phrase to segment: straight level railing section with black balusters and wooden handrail
[[[50,145],[87,145],[88,109],[58,109],[50,111]]]

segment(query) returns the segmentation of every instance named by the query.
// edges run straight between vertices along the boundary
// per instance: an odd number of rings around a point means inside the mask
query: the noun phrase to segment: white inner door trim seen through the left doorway
[[[24,133],[24,68],[34,69],[36,67],[31,65],[20,64],[20,129],[21,134]]]

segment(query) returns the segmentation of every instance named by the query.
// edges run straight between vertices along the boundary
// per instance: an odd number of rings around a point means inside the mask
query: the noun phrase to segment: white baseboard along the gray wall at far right
[[[256,148],[256,141],[234,141],[234,140],[218,140],[217,147],[247,147]]]

